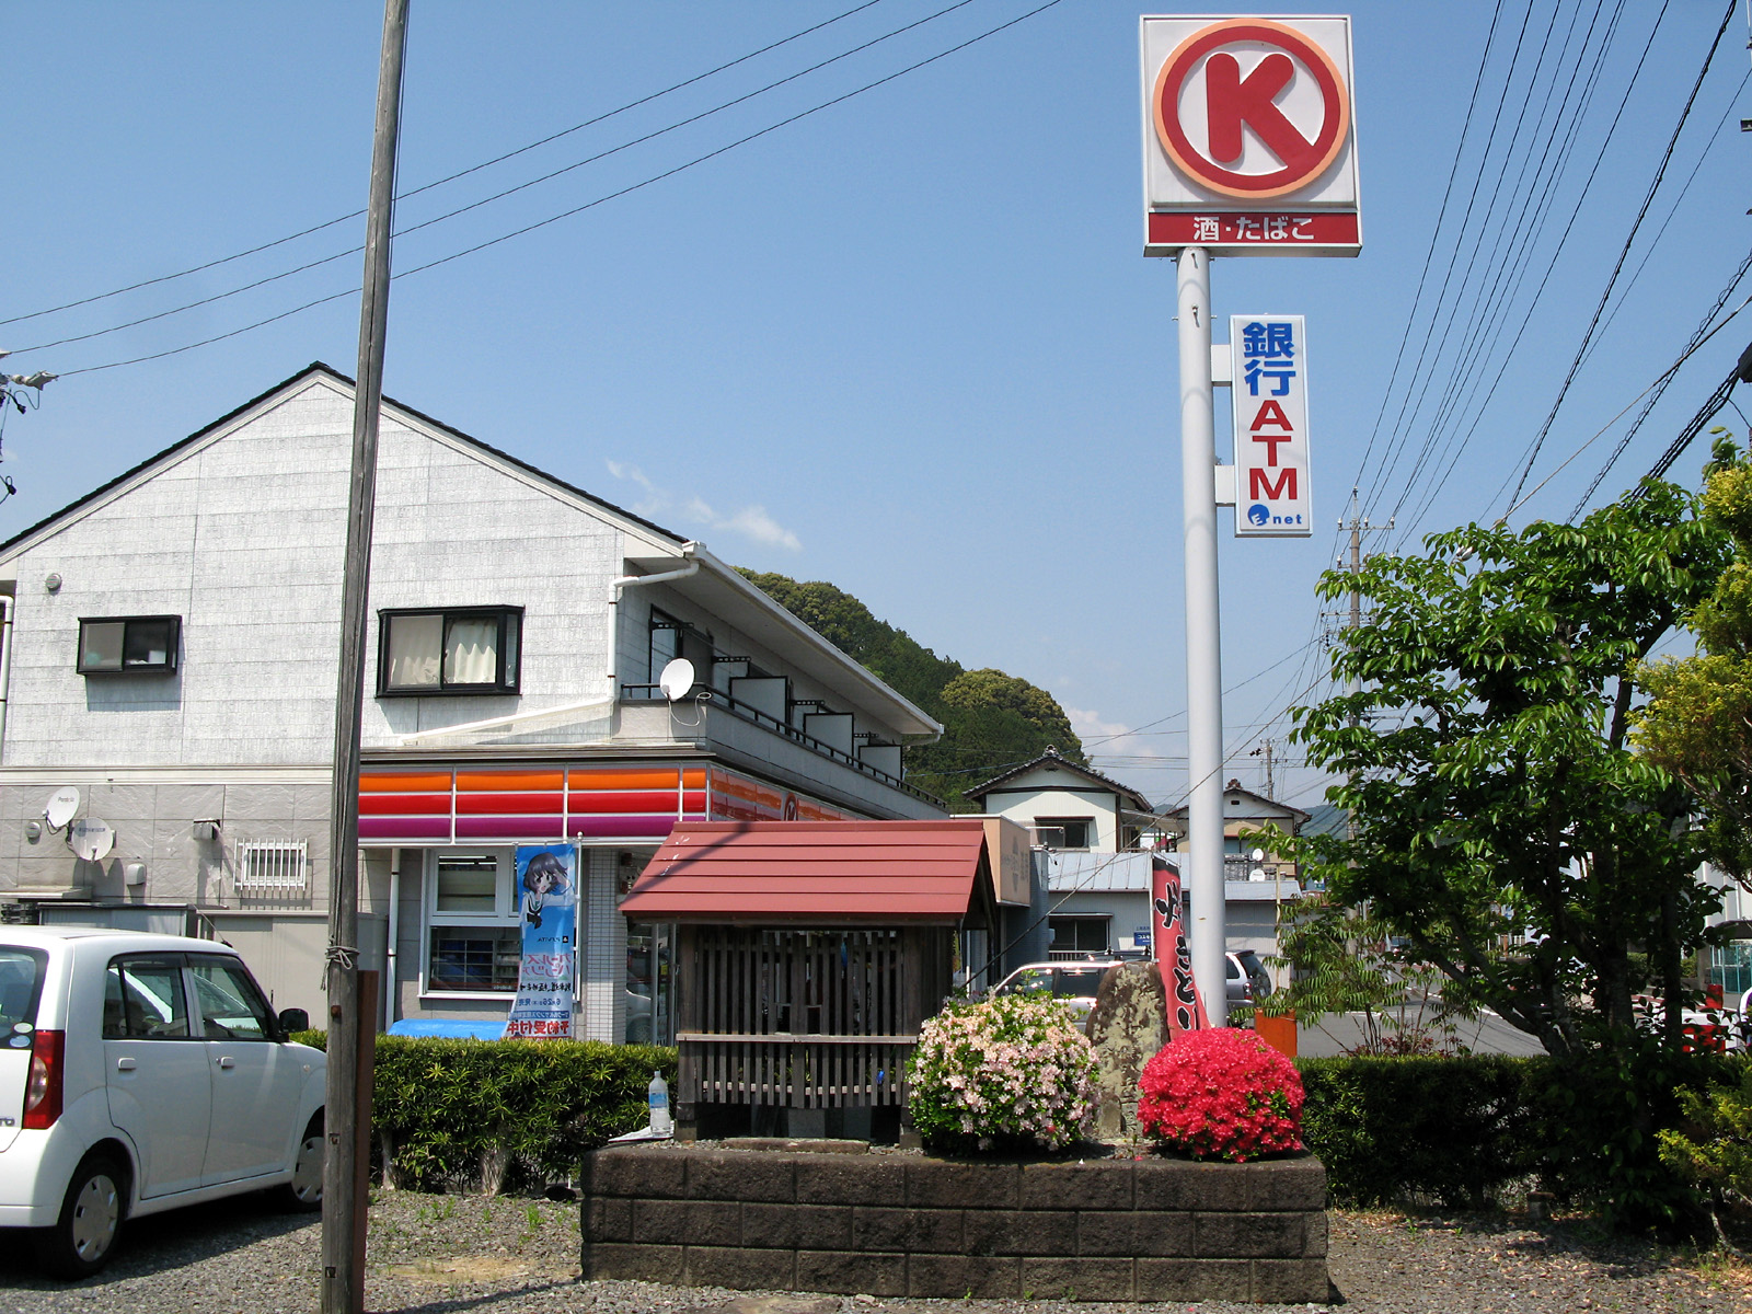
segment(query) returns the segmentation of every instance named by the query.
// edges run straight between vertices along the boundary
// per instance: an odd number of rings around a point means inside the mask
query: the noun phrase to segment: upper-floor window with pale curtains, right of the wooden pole
[[[377,694],[515,694],[520,606],[378,611]]]

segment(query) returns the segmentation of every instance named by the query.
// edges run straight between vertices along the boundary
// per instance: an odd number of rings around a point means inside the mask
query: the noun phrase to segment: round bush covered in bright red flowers
[[[1139,1121],[1162,1149],[1235,1163],[1302,1149],[1302,1077],[1254,1032],[1186,1032],[1137,1088]]]

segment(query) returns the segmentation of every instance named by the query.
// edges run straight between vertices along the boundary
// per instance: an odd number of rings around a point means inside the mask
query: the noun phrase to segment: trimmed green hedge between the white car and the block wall
[[[293,1039],[322,1048],[326,1035]],[[569,1179],[587,1149],[645,1125],[652,1072],[673,1086],[675,1049],[378,1035],[378,1167],[420,1190],[475,1184],[506,1167],[533,1183]]]

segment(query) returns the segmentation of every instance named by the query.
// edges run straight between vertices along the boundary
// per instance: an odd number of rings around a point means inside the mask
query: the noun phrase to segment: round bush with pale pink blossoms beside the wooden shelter
[[[1051,999],[950,1002],[908,1063],[909,1111],[932,1149],[1063,1149],[1093,1130],[1095,1053]]]

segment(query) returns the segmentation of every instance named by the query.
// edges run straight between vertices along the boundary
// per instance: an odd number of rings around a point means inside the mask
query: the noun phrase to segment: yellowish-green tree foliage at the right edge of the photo
[[[1691,615],[1699,652],[1638,671],[1650,703],[1636,743],[1705,808],[1710,858],[1752,878],[1752,464],[1720,438],[1706,468],[1703,515],[1734,543],[1734,561]]]

